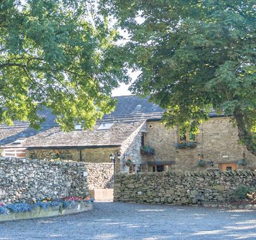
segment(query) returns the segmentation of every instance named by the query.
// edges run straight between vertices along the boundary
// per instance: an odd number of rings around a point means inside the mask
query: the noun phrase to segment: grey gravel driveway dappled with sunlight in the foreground
[[[0,223],[6,239],[256,239],[256,212],[95,203],[85,213]]]

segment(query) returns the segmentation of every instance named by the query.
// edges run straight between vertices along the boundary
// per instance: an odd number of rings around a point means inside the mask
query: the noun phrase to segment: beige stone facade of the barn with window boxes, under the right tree
[[[202,171],[219,169],[223,163],[236,164],[244,154],[248,164],[237,165],[237,169],[256,169],[256,157],[238,143],[237,128],[229,120],[228,117],[210,118],[200,126],[197,147],[184,149],[175,147],[180,141],[178,129],[167,129],[160,121],[148,121],[145,145],[155,148],[155,155],[146,157],[147,162],[172,162],[173,171]],[[198,167],[202,154],[205,167]]]

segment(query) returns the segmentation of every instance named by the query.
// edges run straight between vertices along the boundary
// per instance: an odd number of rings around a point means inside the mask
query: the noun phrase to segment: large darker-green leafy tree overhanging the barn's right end
[[[231,116],[256,154],[255,1],[102,3],[128,31],[125,61],[142,71],[133,91],[166,109],[164,123],[198,131],[213,107]]]

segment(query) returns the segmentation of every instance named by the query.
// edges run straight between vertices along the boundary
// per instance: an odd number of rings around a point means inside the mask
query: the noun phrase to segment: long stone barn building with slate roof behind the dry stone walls
[[[229,117],[213,111],[197,136],[180,135],[178,128],[161,124],[164,111],[158,105],[134,95],[117,99],[116,110],[92,130],[77,125],[64,133],[47,109],[39,112],[46,119],[39,131],[28,122],[0,124],[0,151],[5,156],[84,162],[110,162],[109,155],[119,152],[116,171],[130,172],[256,169],[256,157],[238,143]]]

